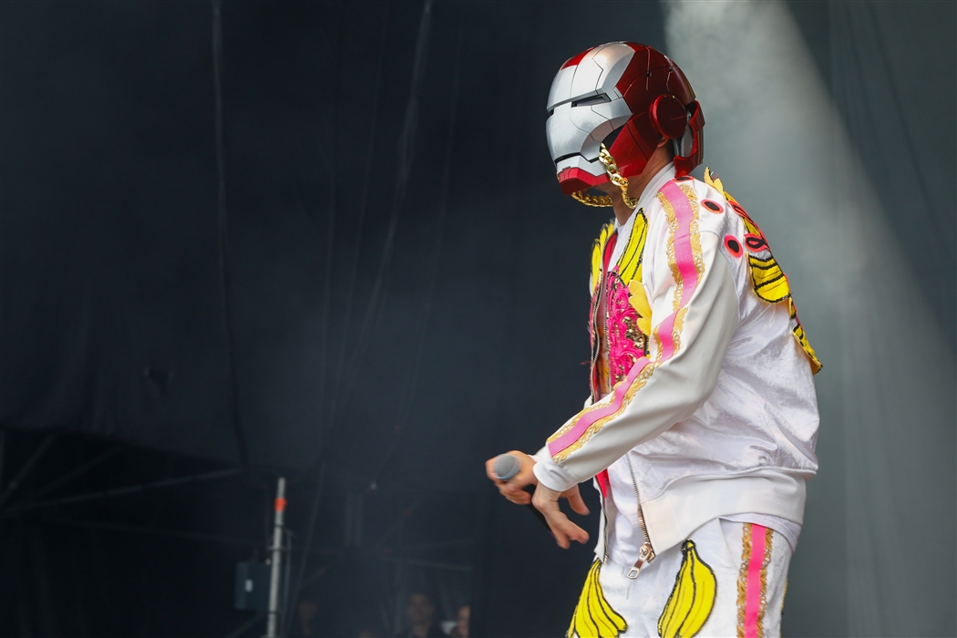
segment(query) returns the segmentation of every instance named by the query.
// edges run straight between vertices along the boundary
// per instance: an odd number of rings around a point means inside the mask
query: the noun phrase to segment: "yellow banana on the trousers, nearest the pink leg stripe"
[[[693,540],[681,544],[681,567],[668,603],[658,618],[661,638],[694,636],[704,627],[715,604],[718,582],[710,566],[698,556]]]

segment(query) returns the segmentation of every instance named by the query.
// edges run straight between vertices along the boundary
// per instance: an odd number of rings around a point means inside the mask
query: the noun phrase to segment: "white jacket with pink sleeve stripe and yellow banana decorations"
[[[674,176],[595,242],[591,397],[535,455],[552,490],[594,477],[595,551],[633,577],[712,518],[800,525],[817,470],[820,363],[788,279],[720,180]]]

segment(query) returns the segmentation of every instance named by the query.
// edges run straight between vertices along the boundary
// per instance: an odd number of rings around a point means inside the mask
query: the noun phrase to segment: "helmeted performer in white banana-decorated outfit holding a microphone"
[[[559,498],[587,514],[593,478],[601,533],[569,637],[779,634],[820,368],[788,279],[721,181],[688,175],[704,119],[668,57],[632,42],[575,55],[548,114],[562,190],[614,211],[591,255],[591,394],[537,454],[509,452],[514,478],[494,459],[489,477],[563,548],[588,534]]]

